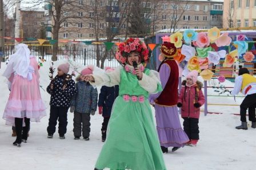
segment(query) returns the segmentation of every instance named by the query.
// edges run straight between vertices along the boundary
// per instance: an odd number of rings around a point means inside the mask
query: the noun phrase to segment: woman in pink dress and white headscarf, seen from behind
[[[3,76],[9,80],[11,90],[3,119],[6,125],[16,127],[17,138],[14,146],[21,146],[27,141],[27,130],[30,121],[40,122],[46,115],[46,107],[39,90],[38,64],[35,57],[30,56],[26,44],[15,46],[16,52],[10,56]],[[22,130],[22,126],[25,126]]]

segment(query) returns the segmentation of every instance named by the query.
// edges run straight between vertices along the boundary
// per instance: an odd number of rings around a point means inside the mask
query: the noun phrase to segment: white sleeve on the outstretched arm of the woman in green
[[[115,68],[115,70],[110,73],[101,72],[92,74],[91,76],[93,76],[94,82],[90,82],[90,84],[93,86],[105,85],[109,87],[119,85],[121,80],[121,69],[122,66]]]

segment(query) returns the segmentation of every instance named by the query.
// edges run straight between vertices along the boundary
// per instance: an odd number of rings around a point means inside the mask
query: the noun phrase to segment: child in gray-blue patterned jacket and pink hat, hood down
[[[87,74],[92,74],[93,69],[85,68],[77,77],[78,93],[71,100],[70,112],[74,112],[74,136],[75,140],[80,139],[81,130],[84,140],[90,136],[90,114],[94,115],[97,110],[98,91],[89,82],[85,81]],[[82,125],[82,126],[81,126]]]

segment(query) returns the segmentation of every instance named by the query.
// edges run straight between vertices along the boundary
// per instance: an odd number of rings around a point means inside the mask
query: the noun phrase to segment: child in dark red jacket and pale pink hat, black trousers
[[[183,127],[190,141],[189,146],[197,146],[199,140],[199,115],[200,107],[205,103],[202,93],[202,83],[197,81],[198,72],[192,71],[187,74],[186,80],[182,82],[179,93],[178,107],[181,107],[181,117],[184,119]]]

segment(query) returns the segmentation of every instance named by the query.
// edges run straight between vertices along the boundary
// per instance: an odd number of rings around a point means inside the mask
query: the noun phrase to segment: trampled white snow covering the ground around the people
[[[57,64],[56,64],[57,65]],[[2,75],[6,65],[2,63]],[[41,68],[41,85],[49,84],[47,76],[49,63]],[[3,113],[9,96],[6,80],[0,76],[0,112]],[[233,85],[225,82],[226,86]],[[210,90],[210,94],[213,93]],[[30,137],[27,143],[18,148],[12,145],[15,138],[11,137],[11,127],[0,119],[0,169],[93,169],[97,156],[101,151],[102,117],[95,114],[91,117],[90,141],[73,139],[73,114],[68,114],[66,139],[47,139],[47,123],[49,118],[50,96],[41,89],[42,98],[47,106],[47,117],[41,123],[31,123]],[[240,104],[231,97],[209,97],[209,103]],[[203,109],[203,108],[202,108]],[[200,140],[197,147],[183,147],[177,152],[164,154],[168,170],[205,170],[205,169],[255,169],[256,130],[235,130],[239,125],[238,106],[209,106],[209,111],[223,114],[203,113],[200,118]],[[153,109],[154,112],[154,109]],[[182,120],[181,120],[182,121]],[[138,169],[134,169],[138,170]],[[143,169],[144,170],[144,169]]]

